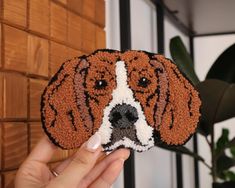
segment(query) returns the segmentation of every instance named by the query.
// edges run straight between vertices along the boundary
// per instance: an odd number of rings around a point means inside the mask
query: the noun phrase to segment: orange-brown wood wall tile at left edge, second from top
[[[27,72],[27,33],[6,25],[3,32],[5,68]]]

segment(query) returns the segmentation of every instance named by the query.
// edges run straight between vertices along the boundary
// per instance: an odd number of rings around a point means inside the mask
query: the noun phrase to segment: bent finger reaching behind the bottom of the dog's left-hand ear
[[[56,149],[57,147],[53,145],[46,136],[44,136],[35,146],[30,155],[27,157],[26,162],[37,161],[42,163],[48,163]]]

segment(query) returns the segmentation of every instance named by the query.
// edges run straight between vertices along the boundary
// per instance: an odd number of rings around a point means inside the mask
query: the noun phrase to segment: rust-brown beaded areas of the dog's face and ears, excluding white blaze
[[[133,98],[163,142],[183,144],[195,132],[201,101],[176,65],[143,51],[100,50],[64,63],[45,89],[42,122],[55,144],[77,148],[100,128],[117,87],[115,68],[120,60],[125,63]],[[122,137],[138,144],[135,134],[135,129],[117,128],[109,145]]]

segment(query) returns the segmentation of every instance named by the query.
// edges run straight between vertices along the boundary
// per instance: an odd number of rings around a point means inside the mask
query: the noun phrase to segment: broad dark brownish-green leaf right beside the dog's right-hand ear
[[[202,100],[203,126],[211,130],[214,123],[235,116],[235,84],[209,79],[199,83],[198,89]]]

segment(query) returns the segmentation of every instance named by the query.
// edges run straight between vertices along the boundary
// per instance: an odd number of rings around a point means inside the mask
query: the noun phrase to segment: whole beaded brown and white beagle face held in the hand
[[[42,95],[43,128],[58,146],[100,134],[105,151],[182,145],[195,132],[201,101],[165,57],[98,50],[65,62]]]

